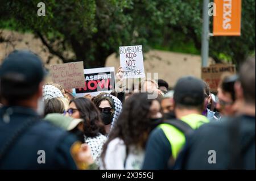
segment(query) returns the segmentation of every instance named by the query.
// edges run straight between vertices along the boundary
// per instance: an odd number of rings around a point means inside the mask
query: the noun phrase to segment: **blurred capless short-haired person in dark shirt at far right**
[[[238,76],[239,115],[199,128],[188,138],[175,169],[255,169],[255,57]]]

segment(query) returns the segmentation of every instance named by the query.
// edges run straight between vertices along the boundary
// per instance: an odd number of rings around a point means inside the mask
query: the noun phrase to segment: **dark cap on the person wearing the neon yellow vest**
[[[199,106],[204,103],[204,83],[201,79],[187,76],[180,78],[174,88],[176,104]]]

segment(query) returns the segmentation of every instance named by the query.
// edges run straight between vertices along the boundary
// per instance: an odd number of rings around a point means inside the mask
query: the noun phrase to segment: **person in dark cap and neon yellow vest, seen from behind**
[[[174,89],[176,119],[164,120],[151,132],[142,169],[159,170],[174,166],[185,144],[185,135],[209,122],[207,117],[201,115],[203,110],[203,81],[191,76],[180,78]]]

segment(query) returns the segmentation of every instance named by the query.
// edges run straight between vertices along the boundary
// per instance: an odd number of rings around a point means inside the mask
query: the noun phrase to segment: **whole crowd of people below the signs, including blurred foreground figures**
[[[77,98],[46,74],[28,50],[0,66],[0,169],[255,169],[255,58],[217,95],[187,76]]]

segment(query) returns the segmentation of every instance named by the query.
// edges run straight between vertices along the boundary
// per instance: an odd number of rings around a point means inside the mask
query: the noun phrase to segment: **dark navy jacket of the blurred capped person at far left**
[[[9,108],[10,121],[6,121],[6,110]],[[8,120],[8,119],[7,119]],[[0,153],[3,145],[28,120],[36,121],[26,129],[7,149],[0,159],[0,169],[77,169],[71,156],[71,146],[76,138],[60,128],[53,127],[47,121],[26,107],[2,107],[0,109]],[[45,163],[38,159],[45,153]]]

